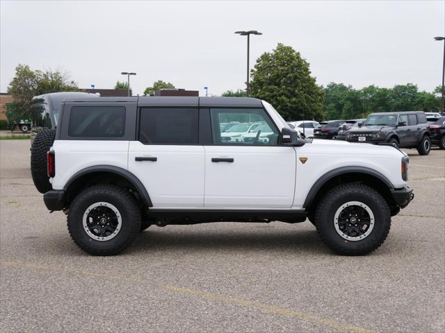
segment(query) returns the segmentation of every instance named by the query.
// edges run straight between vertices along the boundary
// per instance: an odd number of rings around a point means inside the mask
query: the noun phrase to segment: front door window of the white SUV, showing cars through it
[[[213,144],[278,143],[278,130],[263,109],[211,109]],[[238,122],[221,131],[220,123]]]

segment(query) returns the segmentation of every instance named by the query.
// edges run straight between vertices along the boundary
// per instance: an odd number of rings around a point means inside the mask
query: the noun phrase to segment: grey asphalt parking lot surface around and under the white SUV
[[[444,332],[445,151],[410,154],[413,202],[366,257],[309,221],[151,227],[124,254],[77,248],[0,140],[1,332]]]

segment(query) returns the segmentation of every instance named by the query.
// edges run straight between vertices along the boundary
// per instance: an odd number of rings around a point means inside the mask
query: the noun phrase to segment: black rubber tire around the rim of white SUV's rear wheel
[[[83,214],[90,205],[111,203],[122,216],[118,234],[108,241],[92,239],[83,228]],[[140,232],[140,209],[136,199],[124,189],[102,184],[81,191],[70,205],[67,216],[68,232],[74,243],[90,255],[117,255],[133,243]]]

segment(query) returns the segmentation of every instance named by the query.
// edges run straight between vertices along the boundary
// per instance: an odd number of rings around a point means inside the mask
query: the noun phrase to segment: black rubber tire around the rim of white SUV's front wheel
[[[364,239],[348,241],[334,227],[334,214],[349,201],[367,205],[374,214],[373,230]],[[357,183],[339,185],[330,189],[316,207],[315,225],[323,242],[339,255],[366,255],[378,248],[387,238],[391,228],[391,212],[387,202],[375,189]]]

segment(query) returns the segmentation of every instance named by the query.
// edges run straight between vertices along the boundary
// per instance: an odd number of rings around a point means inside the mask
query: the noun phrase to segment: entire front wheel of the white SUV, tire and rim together
[[[375,189],[344,184],[320,200],[315,225],[323,242],[339,255],[366,255],[387,238],[391,212]]]

